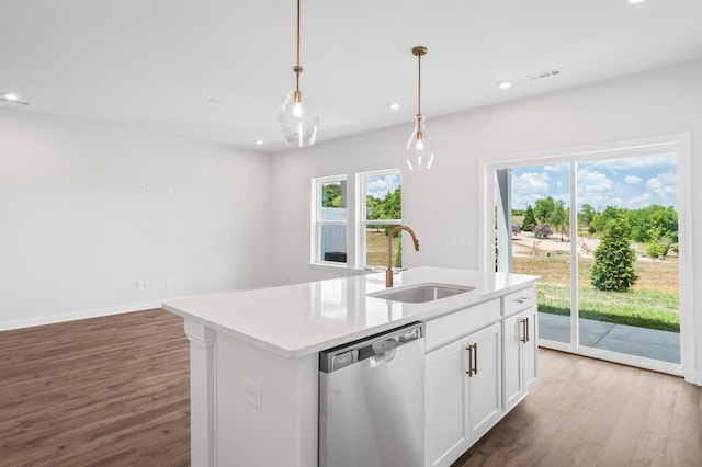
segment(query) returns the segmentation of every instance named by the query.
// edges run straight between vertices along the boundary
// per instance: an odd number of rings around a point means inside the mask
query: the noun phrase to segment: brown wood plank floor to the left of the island
[[[189,377],[160,309],[0,332],[0,466],[190,465]]]

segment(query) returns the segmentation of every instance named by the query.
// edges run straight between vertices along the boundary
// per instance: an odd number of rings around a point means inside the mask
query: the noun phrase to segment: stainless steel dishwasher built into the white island
[[[424,465],[424,324],[319,353],[319,466]]]

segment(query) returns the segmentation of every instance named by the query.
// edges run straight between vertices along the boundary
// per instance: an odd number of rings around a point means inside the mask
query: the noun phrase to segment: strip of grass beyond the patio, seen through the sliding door
[[[539,311],[570,315],[569,286],[540,283],[536,291]],[[680,332],[678,294],[656,291],[602,292],[581,286],[578,301],[580,318]]]

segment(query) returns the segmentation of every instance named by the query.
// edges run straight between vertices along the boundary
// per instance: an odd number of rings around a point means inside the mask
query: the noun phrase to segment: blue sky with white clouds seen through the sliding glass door
[[[552,196],[569,198],[569,163],[512,169],[512,208],[524,209]],[[652,204],[678,208],[676,155],[629,157],[577,163],[577,203],[602,212],[607,206],[638,209]],[[578,209],[579,210],[579,209]]]

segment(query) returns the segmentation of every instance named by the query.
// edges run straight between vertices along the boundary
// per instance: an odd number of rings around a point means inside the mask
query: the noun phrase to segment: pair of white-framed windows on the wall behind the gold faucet
[[[399,169],[358,173],[352,191],[355,195],[351,197],[346,175],[313,179],[312,187],[312,263],[354,269],[386,266],[387,234],[403,219]],[[349,213],[355,213],[355,224],[351,226]],[[397,236],[392,253],[395,267],[401,266],[401,237]]]

